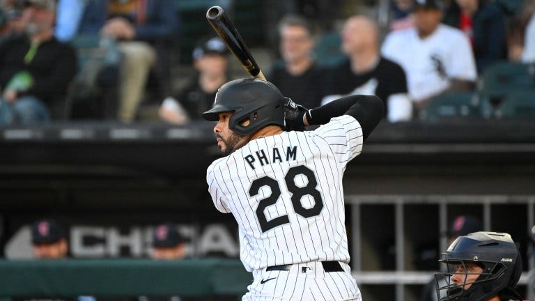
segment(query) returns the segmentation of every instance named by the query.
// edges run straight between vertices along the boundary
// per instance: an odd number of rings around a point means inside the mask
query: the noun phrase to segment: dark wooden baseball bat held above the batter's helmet
[[[231,20],[228,19],[223,8],[220,6],[212,6],[211,8],[208,8],[208,11],[206,12],[206,20],[212,25],[226,47],[234,54],[238,61],[240,61],[243,68],[245,68],[252,77],[265,80],[262,70],[260,70],[260,67],[258,67],[253,55],[249,51],[249,47],[247,47],[242,36],[240,36],[236,26],[234,26]]]

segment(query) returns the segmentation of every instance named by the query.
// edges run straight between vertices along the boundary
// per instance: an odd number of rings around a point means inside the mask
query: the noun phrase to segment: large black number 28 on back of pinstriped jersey
[[[295,184],[295,177],[298,175],[302,175],[307,178],[308,183],[306,186],[299,187]],[[305,218],[320,214],[321,209],[323,208],[323,199],[321,199],[320,192],[316,190],[316,185],[318,185],[318,182],[316,181],[316,176],[314,175],[314,171],[312,171],[312,169],[309,169],[304,165],[292,167],[288,169],[286,176],[284,176],[284,180],[286,181],[286,187],[288,187],[288,191],[292,194],[292,206],[295,213]],[[277,180],[274,178],[265,176],[263,178],[254,180],[251,184],[251,188],[249,189],[249,195],[256,196],[260,188],[264,186],[269,186],[271,188],[271,195],[267,196],[265,199],[261,199],[258,202],[258,207],[256,208],[256,217],[258,217],[258,222],[260,223],[262,232],[268,231],[282,224],[288,224],[290,222],[288,215],[281,215],[269,221],[267,220],[267,217],[265,217],[265,208],[277,203],[279,196],[281,196],[281,188]],[[306,195],[310,195],[314,199],[314,206],[311,208],[304,208],[302,206],[301,198]]]

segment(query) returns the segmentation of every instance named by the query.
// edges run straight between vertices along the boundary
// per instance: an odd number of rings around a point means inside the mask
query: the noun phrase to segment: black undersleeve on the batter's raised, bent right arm
[[[352,95],[329,102],[327,105],[307,111],[304,123],[321,125],[328,123],[331,118],[342,115],[353,116],[362,126],[364,139],[378,125],[384,115],[382,100],[373,95]]]

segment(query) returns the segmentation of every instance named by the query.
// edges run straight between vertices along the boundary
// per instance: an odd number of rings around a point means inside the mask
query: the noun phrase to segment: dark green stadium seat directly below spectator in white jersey
[[[437,95],[419,112],[421,121],[481,118],[478,109],[479,95],[472,92],[455,92]]]

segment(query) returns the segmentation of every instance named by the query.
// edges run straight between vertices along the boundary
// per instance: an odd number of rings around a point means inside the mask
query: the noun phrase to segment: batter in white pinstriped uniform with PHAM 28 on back
[[[342,176],[382,114],[376,96],[307,110],[262,79],[219,88],[203,118],[217,121],[225,156],[206,179],[217,210],[238,222],[240,259],[254,277],[242,300],[361,300],[348,265]]]

